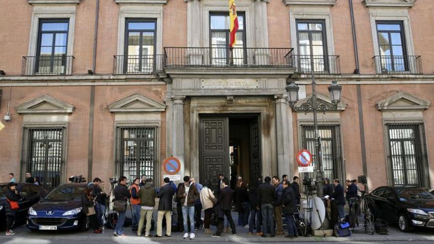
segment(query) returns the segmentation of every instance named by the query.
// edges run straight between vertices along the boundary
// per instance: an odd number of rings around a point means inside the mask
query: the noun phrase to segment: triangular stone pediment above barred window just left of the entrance
[[[109,105],[110,112],[162,112],[166,105],[140,94],[132,95]]]

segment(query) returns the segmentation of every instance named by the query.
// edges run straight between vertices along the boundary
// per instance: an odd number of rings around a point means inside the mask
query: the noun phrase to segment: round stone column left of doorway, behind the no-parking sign
[[[184,96],[173,96],[172,153],[181,162],[181,179],[185,172],[184,161]]]

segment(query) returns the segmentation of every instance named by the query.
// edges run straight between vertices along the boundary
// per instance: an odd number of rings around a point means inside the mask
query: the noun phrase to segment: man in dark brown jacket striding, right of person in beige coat
[[[218,194],[216,208],[218,214],[217,232],[213,234],[212,237],[220,237],[221,233],[223,232],[224,216],[226,216],[227,220],[229,221],[232,234],[237,234],[235,223],[231,215],[232,202],[234,200],[234,190],[229,188],[229,180],[227,178],[223,178],[221,186],[222,188],[220,189],[220,194]]]

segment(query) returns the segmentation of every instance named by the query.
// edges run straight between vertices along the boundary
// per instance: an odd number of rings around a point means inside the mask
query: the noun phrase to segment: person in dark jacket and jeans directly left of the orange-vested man
[[[113,235],[116,237],[126,237],[124,232],[125,214],[127,211],[127,201],[131,194],[127,187],[127,177],[120,176],[119,183],[114,188],[113,210],[117,211],[118,217]]]

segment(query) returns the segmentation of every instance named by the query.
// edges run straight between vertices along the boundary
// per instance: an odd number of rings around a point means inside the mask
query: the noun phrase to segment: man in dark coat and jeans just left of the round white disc
[[[289,187],[289,181],[284,180],[283,194],[282,194],[282,212],[285,215],[288,226],[288,235],[285,237],[294,238],[298,235],[297,227],[294,222],[294,213],[297,212],[297,199],[295,198],[295,192],[292,187]]]

